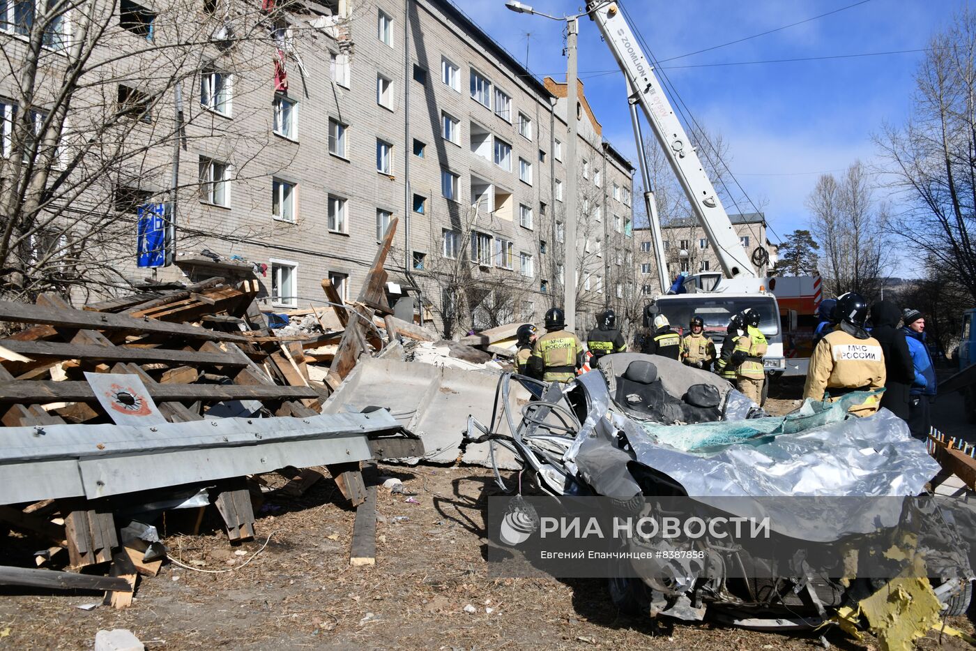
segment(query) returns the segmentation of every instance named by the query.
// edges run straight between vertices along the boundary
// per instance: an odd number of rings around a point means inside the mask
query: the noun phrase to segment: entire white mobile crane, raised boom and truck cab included
[[[668,267],[661,223],[643,151],[637,106],[643,109],[644,116],[671,163],[671,169],[687,195],[695,216],[705,229],[724,275],[724,278],[717,274],[699,274],[692,277],[685,283],[686,287],[690,286],[691,293],[659,296],[653,301],[654,306],[668,317],[672,325],[687,325],[692,317],[701,317],[705,321],[706,329],[718,335],[716,338],[724,336],[732,315],[746,308],[758,311],[762,315],[759,329],[769,342],[769,349],[763,359],[764,367],[767,372],[783,371],[786,369],[786,361],[783,357],[783,335],[776,297],[766,291],[766,279],[752,267],[750,254],[742,245],[695,148],[691,146],[684,127],[674,114],[671,102],[654,74],[653,65],[644,56],[619,3],[592,1],[588,3],[587,11],[590,20],[599,27],[603,40],[610,47],[628,81],[630,118],[637,141],[637,155],[644,182],[644,201],[650,220],[662,293],[670,286],[666,276]],[[765,251],[761,249],[757,253],[756,265],[761,267],[768,261],[768,255],[762,255]],[[768,386],[768,382],[765,386]]]

